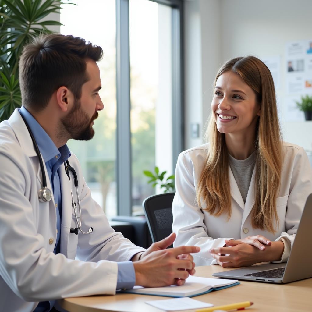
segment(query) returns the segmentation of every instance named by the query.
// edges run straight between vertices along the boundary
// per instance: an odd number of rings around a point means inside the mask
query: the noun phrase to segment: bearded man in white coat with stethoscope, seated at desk
[[[145,250],[116,233],[66,146],[94,135],[101,56],[99,46],[60,34],[24,47],[23,106],[0,124],[0,311],[50,311],[64,297],[182,285],[195,272],[190,253],[198,247],[165,249],[175,234]]]

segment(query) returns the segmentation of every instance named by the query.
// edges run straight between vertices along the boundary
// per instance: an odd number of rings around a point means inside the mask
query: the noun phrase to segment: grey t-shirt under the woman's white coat
[[[243,160],[235,159],[229,154],[229,165],[234,175],[238,189],[241,192],[241,197],[245,203],[251,176],[255,167],[255,153],[252,153],[248,158]]]

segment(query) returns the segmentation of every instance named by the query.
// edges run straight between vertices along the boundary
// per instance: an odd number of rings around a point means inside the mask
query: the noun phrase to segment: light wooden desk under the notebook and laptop
[[[220,266],[198,266],[196,267],[195,275],[212,277],[212,273],[222,270],[229,269],[222,269]],[[240,285],[193,298],[216,306],[241,301],[253,301],[254,305],[247,308],[246,312],[311,312],[312,310],[312,278],[289,284],[240,282]],[[70,312],[161,312],[162,310],[144,303],[147,300],[158,299],[162,300],[165,297],[116,294],[115,296],[101,295],[66,298],[60,300],[59,303]]]

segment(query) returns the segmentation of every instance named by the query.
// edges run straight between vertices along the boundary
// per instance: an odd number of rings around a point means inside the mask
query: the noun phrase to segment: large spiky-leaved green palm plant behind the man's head
[[[23,46],[40,33],[51,33],[43,20],[59,12],[63,0],[0,0],[0,121],[8,119],[22,104],[18,60]]]

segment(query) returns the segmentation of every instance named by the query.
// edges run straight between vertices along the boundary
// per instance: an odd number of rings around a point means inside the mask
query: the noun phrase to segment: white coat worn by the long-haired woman
[[[275,234],[251,226],[255,169],[244,204],[229,167],[232,196],[232,215],[229,220],[227,214],[215,217],[198,207],[195,192],[207,149],[209,144],[203,144],[179,155],[176,194],[173,199],[173,232],[177,234],[177,238],[173,245],[201,247],[201,251],[193,255],[197,266],[217,264],[208,250],[224,246],[225,239],[241,239],[261,234],[271,241],[279,241],[285,237],[292,246],[306,199],[312,193],[312,170],[304,149],[284,142],[280,193],[276,198],[279,227]]]

